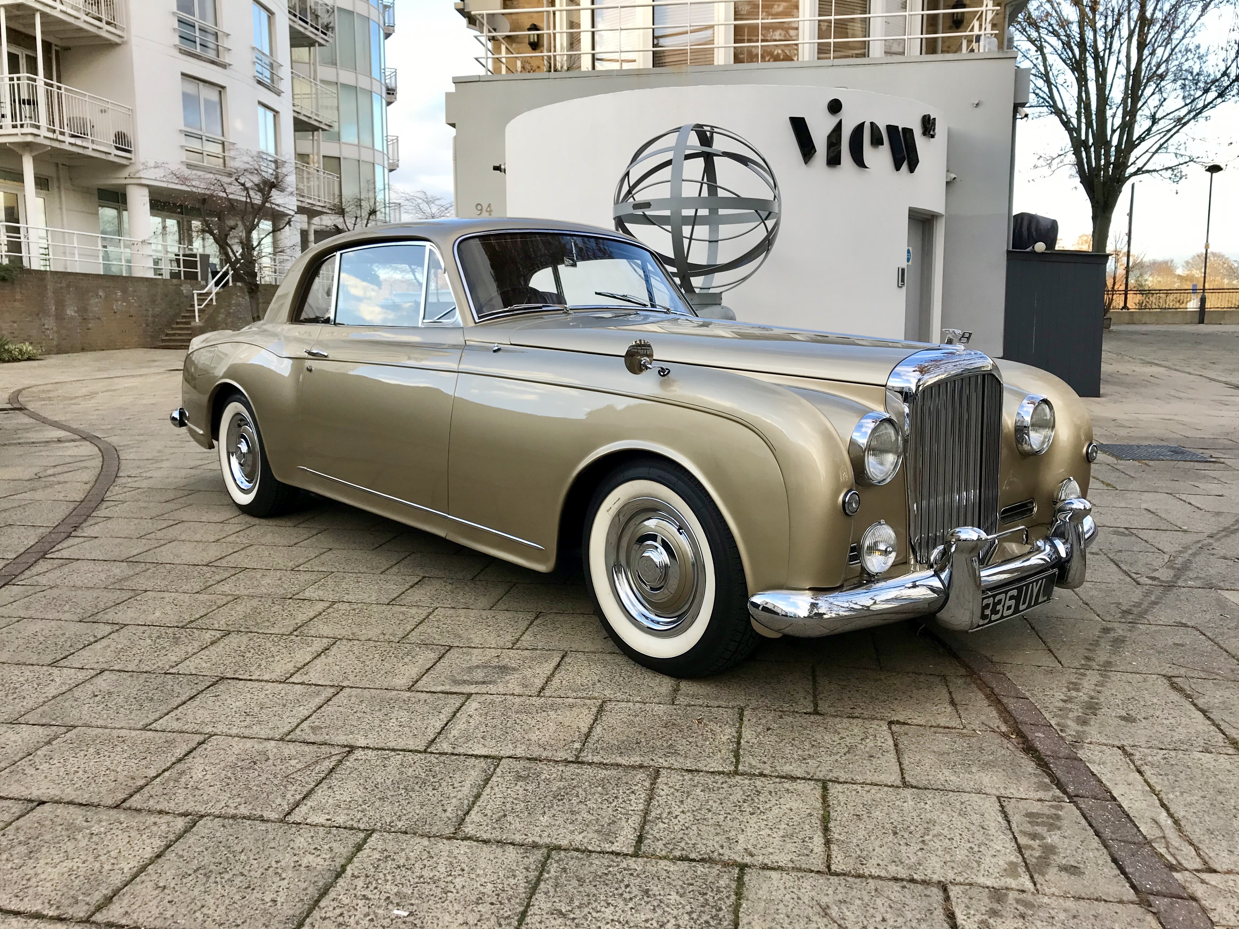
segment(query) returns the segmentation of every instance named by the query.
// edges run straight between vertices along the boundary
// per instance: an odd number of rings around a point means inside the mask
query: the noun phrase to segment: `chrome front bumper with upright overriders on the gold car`
[[[1085,552],[1094,538],[1097,523],[1089,502],[1062,500],[1046,538],[1001,565],[983,566],[997,539],[963,526],[952,530],[928,571],[845,591],[763,591],[748,598],[748,613],[767,629],[810,638],[929,614],[937,614],[943,628],[971,632],[981,626],[986,591],[1047,571],[1057,572],[1058,587],[1084,583]]]

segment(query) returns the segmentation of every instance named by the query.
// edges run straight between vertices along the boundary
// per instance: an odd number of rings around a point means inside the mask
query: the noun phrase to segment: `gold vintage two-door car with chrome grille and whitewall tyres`
[[[551,571],[634,660],[970,630],[1084,580],[1097,457],[1063,382],[963,346],[701,318],[633,239],[435,220],[305,253],[196,338],[183,408],[253,515],[299,488]]]

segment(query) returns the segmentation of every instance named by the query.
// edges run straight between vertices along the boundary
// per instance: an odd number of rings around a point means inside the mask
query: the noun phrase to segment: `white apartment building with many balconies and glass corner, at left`
[[[393,2],[0,0],[0,261],[207,280],[176,178],[249,152],[295,178],[273,277],[349,197],[385,219]]]

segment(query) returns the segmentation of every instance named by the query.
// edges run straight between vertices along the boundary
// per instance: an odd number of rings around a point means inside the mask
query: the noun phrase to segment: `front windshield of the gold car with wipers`
[[[601,235],[514,232],[457,245],[479,320],[522,310],[649,307],[693,316],[653,254]]]

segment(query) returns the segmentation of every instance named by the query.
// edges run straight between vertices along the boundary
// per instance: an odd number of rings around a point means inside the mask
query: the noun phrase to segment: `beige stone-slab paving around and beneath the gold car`
[[[968,639],[1219,925],[1239,925],[1237,348],[1228,327],[1106,336],[1099,437],[1218,463],[1103,457],[1089,583]],[[326,502],[238,514],[167,426],[178,364],[0,368],[5,396],[61,382],[22,399],[121,462],[0,587],[0,929],[1156,925],[913,626],[650,674],[571,577]],[[98,464],[0,412],[0,561]]]

